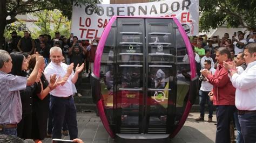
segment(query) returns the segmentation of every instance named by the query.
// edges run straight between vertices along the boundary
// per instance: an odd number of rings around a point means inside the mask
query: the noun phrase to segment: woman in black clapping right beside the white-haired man
[[[33,68],[36,65],[36,54],[31,56],[29,61],[29,70],[31,73]],[[47,129],[47,119],[49,114],[49,92],[55,89],[58,85],[63,85],[68,78],[58,78],[56,80],[56,75],[52,75],[50,77],[50,83],[46,80],[43,70],[45,68],[45,64],[40,67],[41,78],[40,84],[37,86],[41,87],[41,92],[37,94],[33,94],[33,106],[32,106],[32,139],[35,142],[41,142],[46,137],[46,129]]]

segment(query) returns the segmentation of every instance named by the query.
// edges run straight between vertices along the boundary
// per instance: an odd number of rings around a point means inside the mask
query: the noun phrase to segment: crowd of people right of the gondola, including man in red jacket
[[[238,33],[237,35],[235,35]],[[213,104],[216,106],[217,131],[215,142],[256,141],[256,32],[247,38],[241,31],[232,39],[228,33],[205,38],[194,37],[192,48],[199,81],[200,117],[204,120],[205,102],[208,122],[212,122]]]

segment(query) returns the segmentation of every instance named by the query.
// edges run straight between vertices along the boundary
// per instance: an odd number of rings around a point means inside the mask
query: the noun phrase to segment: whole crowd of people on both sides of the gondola
[[[235,32],[236,33],[236,32]],[[11,42],[0,50],[0,134],[17,135],[41,142],[46,136],[78,140],[73,95],[79,94],[82,73],[93,72],[98,40],[79,40],[55,32],[55,38],[39,35],[32,39],[12,32]],[[207,38],[193,37],[191,45],[200,75],[200,117],[208,122],[216,106],[216,142],[231,142],[231,121],[237,142],[256,141],[256,33],[247,38],[237,32]],[[184,57],[185,58],[185,57]],[[91,67],[91,68],[89,68]],[[89,70],[90,69],[90,70]],[[69,130],[69,132],[67,132]]]

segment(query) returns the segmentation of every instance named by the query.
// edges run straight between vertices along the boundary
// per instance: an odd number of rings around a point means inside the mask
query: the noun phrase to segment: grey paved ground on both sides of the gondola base
[[[216,116],[214,115],[212,123],[195,121],[194,119],[198,117],[198,112],[190,113],[180,132],[170,142],[214,142]],[[114,142],[95,113],[78,113],[77,120],[79,138],[83,139],[84,142]],[[63,139],[69,139],[69,137],[63,136]],[[46,138],[43,142],[51,142],[51,139]]]

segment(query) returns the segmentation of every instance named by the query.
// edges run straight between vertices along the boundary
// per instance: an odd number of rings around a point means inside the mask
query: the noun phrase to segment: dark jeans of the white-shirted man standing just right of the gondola
[[[200,116],[201,117],[205,116],[205,100],[207,99],[208,112],[209,112],[208,117],[212,118],[213,105],[212,105],[212,101],[210,101],[210,97],[208,96],[209,92],[210,91],[199,90],[199,104],[200,104]]]

